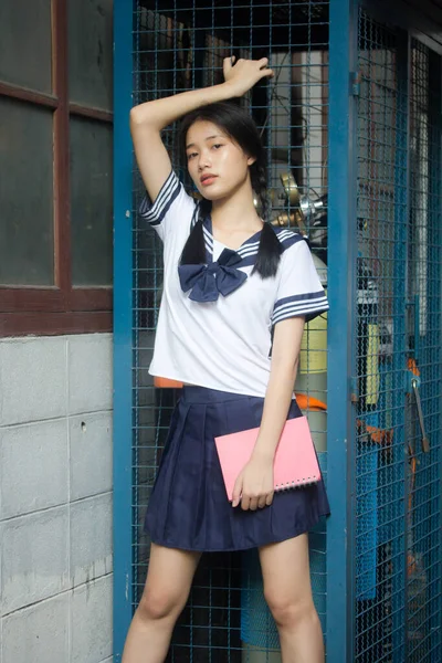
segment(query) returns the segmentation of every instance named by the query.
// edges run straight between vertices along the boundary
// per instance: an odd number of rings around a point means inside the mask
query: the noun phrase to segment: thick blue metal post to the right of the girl
[[[357,6],[330,2],[329,33],[329,169],[328,169],[328,407],[327,491],[332,517],[327,524],[327,659],[351,661],[351,540],[348,477],[352,460],[354,407],[349,376],[355,375],[354,308],[356,196],[355,115],[350,72],[357,52]],[[356,90],[355,90],[356,92]],[[347,256],[347,262],[343,260]]]

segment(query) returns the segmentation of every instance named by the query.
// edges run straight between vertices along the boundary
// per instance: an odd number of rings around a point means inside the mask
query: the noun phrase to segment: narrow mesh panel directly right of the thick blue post
[[[355,661],[404,661],[407,53],[359,17]]]

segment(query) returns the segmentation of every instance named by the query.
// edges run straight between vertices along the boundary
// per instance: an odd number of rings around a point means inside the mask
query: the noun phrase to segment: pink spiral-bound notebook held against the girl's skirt
[[[228,497],[241,470],[250,460],[260,429],[249,429],[215,438]],[[306,417],[288,419],[276,448],[274,460],[275,491],[296,488],[320,480],[320,471]]]

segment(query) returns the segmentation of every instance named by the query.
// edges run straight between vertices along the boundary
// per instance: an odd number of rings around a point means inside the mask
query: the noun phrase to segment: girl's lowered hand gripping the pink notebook
[[[233,487],[232,506],[241,503],[243,511],[256,511],[273,502],[273,463],[252,456],[239,474]]]

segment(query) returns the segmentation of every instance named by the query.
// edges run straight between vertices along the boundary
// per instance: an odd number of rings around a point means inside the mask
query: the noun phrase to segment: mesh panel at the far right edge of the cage
[[[441,397],[442,191],[441,57],[411,43],[410,225],[408,283],[410,349],[419,369],[430,452],[422,448],[415,398],[408,397],[409,445],[407,598],[408,660],[442,660]]]

